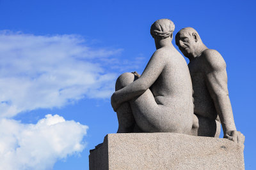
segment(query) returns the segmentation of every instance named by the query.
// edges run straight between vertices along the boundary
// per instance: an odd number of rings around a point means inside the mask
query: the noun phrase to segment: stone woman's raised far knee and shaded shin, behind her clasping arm
[[[116,91],[124,88],[136,80],[137,77],[132,73],[121,74],[116,80]],[[117,109],[116,115],[118,118],[118,133],[131,133],[134,131],[134,124],[136,123],[132,115],[132,110],[129,102],[122,103]]]

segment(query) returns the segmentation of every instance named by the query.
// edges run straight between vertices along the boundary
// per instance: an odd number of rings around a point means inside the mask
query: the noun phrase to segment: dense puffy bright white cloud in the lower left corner
[[[82,152],[86,125],[46,115],[37,124],[0,120],[0,169],[52,169],[57,160]]]

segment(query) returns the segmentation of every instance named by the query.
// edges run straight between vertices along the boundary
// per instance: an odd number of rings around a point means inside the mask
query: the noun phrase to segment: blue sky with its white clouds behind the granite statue
[[[245,167],[256,169],[254,8],[254,1],[0,0],[0,167],[88,169],[89,150],[118,128],[110,104],[117,76],[142,73],[155,50],[150,25],[169,18],[174,34],[194,27],[223,55]]]

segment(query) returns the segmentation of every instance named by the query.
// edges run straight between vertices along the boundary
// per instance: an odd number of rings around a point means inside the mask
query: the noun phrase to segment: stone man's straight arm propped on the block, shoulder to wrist
[[[214,101],[220,117],[224,136],[236,131],[232,107],[228,96],[227,71],[225,60],[216,50],[205,50],[205,76],[207,89]]]

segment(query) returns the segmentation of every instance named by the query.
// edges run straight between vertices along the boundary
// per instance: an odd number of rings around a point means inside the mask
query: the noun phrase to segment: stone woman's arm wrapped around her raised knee
[[[165,66],[163,53],[155,52],[138,80],[123,89],[117,90],[111,97],[112,105],[120,105],[143,94],[159,77]],[[114,107],[113,107],[114,108]],[[115,108],[114,108],[115,110]]]

